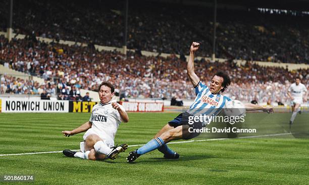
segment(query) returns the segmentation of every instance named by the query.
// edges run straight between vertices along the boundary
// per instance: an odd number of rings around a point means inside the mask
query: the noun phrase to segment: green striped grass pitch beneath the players
[[[255,115],[260,114],[251,114]],[[290,115],[275,113],[265,119],[270,120],[269,125],[278,126],[272,122],[281,120],[287,126]],[[89,116],[86,113],[2,113],[0,154],[77,150],[83,133],[64,137],[61,131],[79,126]],[[175,116],[176,113],[129,113],[130,122],[120,125],[115,143],[144,144]],[[304,113],[297,115],[296,120],[307,118],[308,114]],[[0,156],[0,175],[33,174],[36,184],[309,183],[307,138],[283,135],[169,146],[180,154],[178,160],[163,159],[163,154],[153,151],[129,164],[125,158],[136,147],[129,147],[116,160],[106,161],[68,158],[62,153]]]

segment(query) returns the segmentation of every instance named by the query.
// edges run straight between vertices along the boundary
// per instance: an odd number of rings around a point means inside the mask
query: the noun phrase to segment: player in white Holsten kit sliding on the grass
[[[89,121],[74,130],[64,130],[65,136],[86,131],[80,144],[81,152],[64,150],[68,157],[78,157],[89,160],[116,159],[124,152],[127,144],[114,146],[114,138],[121,122],[128,122],[129,117],[125,109],[116,102],[111,102],[114,96],[114,86],[104,81],[99,86],[100,102],[93,106]]]

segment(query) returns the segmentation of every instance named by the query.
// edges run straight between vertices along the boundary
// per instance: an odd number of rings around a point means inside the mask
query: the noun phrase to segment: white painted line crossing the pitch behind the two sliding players
[[[255,137],[269,137],[269,136],[278,136],[278,135],[290,135],[292,133],[276,133],[276,134],[266,134],[266,135],[252,135],[252,136],[243,136],[238,138],[255,138]],[[206,141],[219,141],[219,140],[231,140],[231,138],[212,138],[207,140],[190,140],[190,141],[182,141],[182,142],[171,142],[170,144],[179,144],[179,143],[192,143],[192,142],[206,142]],[[139,147],[141,145],[129,145],[128,147]],[[78,150],[73,150],[78,151]],[[50,154],[50,153],[61,153],[62,151],[52,151],[52,152],[34,152],[34,153],[20,153],[20,154],[0,154],[0,156],[20,156],[20,155],[33,155],[33,154]]]

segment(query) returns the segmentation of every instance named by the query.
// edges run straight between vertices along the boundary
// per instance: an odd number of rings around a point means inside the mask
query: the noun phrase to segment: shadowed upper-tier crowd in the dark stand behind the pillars
[[[72,2],[14,1],[14,32],[122,47],[123,1]],[[8,6],[6,1],[0,7],[0,29],[4,31]],[[198,55],[210,57],[212,19],[213,10],[207,7],[131,1],[128,48],[186,54],[187,45],[196,40],[201,43]],[[308,63],[308,19],[258,10],[218,9],[217,57]]]

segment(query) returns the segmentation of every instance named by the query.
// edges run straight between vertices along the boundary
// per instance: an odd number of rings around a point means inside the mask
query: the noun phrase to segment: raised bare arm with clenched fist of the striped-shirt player
[[[196,87],[199,82],[199,78],[194,72],[194,53],[198,50],[198,47],[199,47],[199,43],[192,42],[192,45],[190,48],[189,61],[187,65],[187,73],[194,87]]]

